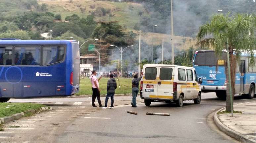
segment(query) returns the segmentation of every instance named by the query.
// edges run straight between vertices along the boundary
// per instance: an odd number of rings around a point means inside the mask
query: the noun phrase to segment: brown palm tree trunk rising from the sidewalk
[[[226,72],[226,79],[227,79],[227,98],[226,98],[226,111],[231,112],[233,108],[231,108],[231,100],[230,100],[230,94],[232,95],[232,101],[234,100],[234,93],[235,93],[235,69],[236,69],[236,61],[235,61],[235,55],[233,54],[233,48],[229,48],[229,59],[230,59],[230,74],[231,74],[231,88],[232,93],[229,92],[229,73],[228,73],[228,64],[226,62],[225,66],[225,72]]]

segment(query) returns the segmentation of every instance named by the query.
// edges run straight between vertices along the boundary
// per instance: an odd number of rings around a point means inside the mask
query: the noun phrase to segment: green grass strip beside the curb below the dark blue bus
[[[37,110],[40,107],[45,107],[45,105],[34,103],[0,103],[0,118],[26,112],[31,109]]]

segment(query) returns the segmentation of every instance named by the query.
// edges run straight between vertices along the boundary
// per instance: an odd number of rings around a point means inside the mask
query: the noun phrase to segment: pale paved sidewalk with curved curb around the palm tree
[[[223,111],[225,108],[219,110]],[[256,143],[256,101],[234,105],[234,110],[242,114],[214,115],[214,122],[218,128],[238,141]]]

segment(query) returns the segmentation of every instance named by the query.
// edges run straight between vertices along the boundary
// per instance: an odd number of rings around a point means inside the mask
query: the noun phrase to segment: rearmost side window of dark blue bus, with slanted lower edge
[[[43,65],[49,65],[61,62],[64,58],[63,46],[46,46],[43,47]]]

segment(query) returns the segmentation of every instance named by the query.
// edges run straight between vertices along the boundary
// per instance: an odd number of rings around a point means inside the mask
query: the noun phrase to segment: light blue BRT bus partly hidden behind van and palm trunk
[[[202,92],[216,92],[216,96],[221,99],[226,99],[227,80],[224,65],[226,55],[227,53],[223,51],[222,56],[217,58],[214,50],[196,51],[193,62],[198,78],[203,80]],[[256,66],[249,66],[248,63],[250,63],[249,53],[242,52],[236,66],[235,94],[253,98],[255,95]],[[218,65],[217,70],[216,65]]]

